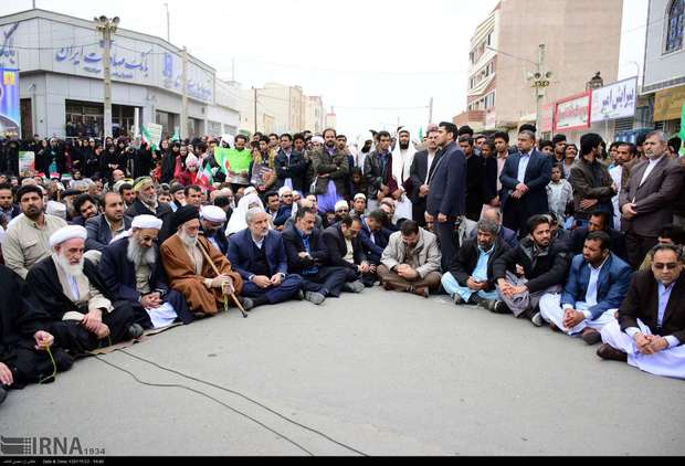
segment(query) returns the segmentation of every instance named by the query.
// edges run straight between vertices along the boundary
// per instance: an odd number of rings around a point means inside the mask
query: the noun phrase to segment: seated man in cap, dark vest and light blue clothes
[[[455,305],[479,306],[486,299],[497,299],[493,264],[509,251],[499,236],[500,229],[497,222],[483,219],[476,240],[467,240],[456,250],[450,272],[442,277],[442,286]]]

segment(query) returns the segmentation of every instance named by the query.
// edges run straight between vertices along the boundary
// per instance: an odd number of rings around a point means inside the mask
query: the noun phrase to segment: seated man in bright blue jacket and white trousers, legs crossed
[[[611,251],[604,232],[592,232],[582,254],[571,263],[561,295],[540,299],[542,318],[569,336],[581,335],[588,345],[601,341],[601,329],[614,319],[630,287],[633,271]]]

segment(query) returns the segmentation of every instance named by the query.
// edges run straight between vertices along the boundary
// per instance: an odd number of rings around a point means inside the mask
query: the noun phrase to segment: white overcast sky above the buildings
[[[301,85],[333,106],[340,131],[402,125],[418,130],[435,98],[433,120],[466,106],[470,40],[498,0],[168,0],[171,42],[243,87]],[[540,0],[544,1],[544,0]],[[601,0],[598,0],[601,1]],[[649,0],[624,0],[620,76],[644,61]],[[118,15],[120,27],[166,38],[164,1],[36,0],[84,19]],[[0,15],[31,8],[0,3]]]

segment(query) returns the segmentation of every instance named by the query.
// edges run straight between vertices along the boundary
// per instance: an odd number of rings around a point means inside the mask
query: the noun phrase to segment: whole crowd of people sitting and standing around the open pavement
[[[373,286],[446,294],[685,379],[685,168],[679,141],[637,142],[526,125],[512,146],[451,123],[419,141],[4,142],[0,402],[149,329]],[[217,148],[247,155],[247,176]],[[18,171],[20,149],[35,170]]]

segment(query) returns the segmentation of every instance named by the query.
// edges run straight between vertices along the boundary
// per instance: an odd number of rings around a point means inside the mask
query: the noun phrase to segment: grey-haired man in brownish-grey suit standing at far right
[[[619,200],[628,258],[635,269],[658,242],[663,225],[673,223],[673,203],[681,193],[684,176],[681,165],[668,158],[662,131],[647,135],[644,155],[647,160],[633,166]]]

